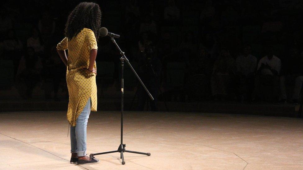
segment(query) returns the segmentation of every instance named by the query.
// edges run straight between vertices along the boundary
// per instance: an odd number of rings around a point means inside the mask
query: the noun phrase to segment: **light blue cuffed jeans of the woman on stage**
[[[76,126],[70,127],[70,153],[77,153],[78,156],[86,155],[86,126],[90,114],[91,98],[88,101],[76,120]]]

